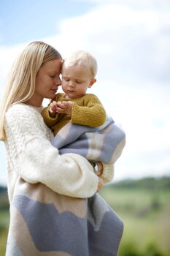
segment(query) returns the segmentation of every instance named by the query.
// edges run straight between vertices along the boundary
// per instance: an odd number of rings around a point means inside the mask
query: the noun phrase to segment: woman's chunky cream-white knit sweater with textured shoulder
[[[13,105],[6,113],[5,142],[9,202],[18,176],[31,184],[42,182],[55,192],[72,197],[90,197],[98,177],[88,160],[77,154],[58,154],[50,141],[53,133],[41,116],[42,108]],[[104,167],[106,181],[112,180],[112,166]]]

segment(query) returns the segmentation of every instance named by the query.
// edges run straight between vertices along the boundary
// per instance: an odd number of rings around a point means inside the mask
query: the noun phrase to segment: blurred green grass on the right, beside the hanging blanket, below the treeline
[[[101,195],[125,225],[120,256],[170,256],[169,189],[106,186]]]

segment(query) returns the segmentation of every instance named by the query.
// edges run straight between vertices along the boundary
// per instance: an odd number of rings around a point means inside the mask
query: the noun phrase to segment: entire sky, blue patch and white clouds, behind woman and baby
[[[0,3],[0,99],[23,47],[43,40],[64,56],[98,61],[97,94],[127,142],[115,180],[170,174],[169,0],[4,1]],[[47,104],[47,102],[45,102]],[[6,184],[0,143],[0,184]]]

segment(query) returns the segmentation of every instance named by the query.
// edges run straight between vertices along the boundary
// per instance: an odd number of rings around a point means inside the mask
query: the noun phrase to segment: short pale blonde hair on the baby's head
[[[97,74],[97,61],[96,59],[85,50],[77,50],[69,54],[69,56],[66,56],[65,59],[63,59],[63,65],[64,67],[72,67],[76,66],[79,67],[88,67],[88,69],[91,72],[92,78],[96,77]]]

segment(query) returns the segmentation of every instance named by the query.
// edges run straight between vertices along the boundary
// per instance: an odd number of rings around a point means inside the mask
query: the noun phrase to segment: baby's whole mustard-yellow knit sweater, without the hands
[[[69,121],[74,124],[88,125],[90,127],[100,127],[106,120],[106,112],[102,106],[98,97],[95,94],[85,94],[77,99],[66,99],[66,94],[58,93],[55,99],[58,101],[72,101],[74,102],[72,108],[72,116],[57,113],[55,118],[51,118],[49,115],[50,104],[42,111],[45,124],[53,129],[54,135],[66,125]]]

